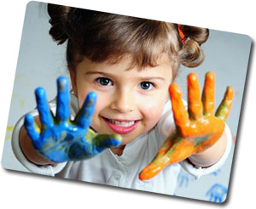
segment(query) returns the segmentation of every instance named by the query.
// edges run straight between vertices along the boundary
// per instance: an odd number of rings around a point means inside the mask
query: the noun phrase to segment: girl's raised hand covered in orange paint
[[[213,115],[214,82],[214,74],[208,72],[201,98],[198,77],[195,73],[189,74],[189,110],[186,110],[183,104],[181,89],[177,84],[171,84],[169,93],[177,133],[166,138],[154,160],[140,173],[140,179],[153,178],[167,165],[207,150],[222,136],[224,121],[230,113],[234,93],[233,88],[227,88],[224,99]]]

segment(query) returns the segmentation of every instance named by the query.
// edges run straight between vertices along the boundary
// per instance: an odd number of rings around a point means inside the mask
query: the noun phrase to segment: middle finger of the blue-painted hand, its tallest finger
[[[56,119],[66,121],[70,116],[69,101],[70,95],[68,92],[68,81],[67,78],[61,76],[57,79],[57,110]]]

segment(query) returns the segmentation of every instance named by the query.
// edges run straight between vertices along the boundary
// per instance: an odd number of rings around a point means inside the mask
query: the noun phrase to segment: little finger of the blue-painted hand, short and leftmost
[[[32,139],[32,141],[36,142],[39,139],[40,133],[36,129],[38,126],[36,125],[34,118],[32,115],[27,114],[24,118],[24,127],[27,135]]]

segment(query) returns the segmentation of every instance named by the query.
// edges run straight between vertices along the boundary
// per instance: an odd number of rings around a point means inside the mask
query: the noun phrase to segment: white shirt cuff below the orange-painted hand
[[[230,127],[225,124],[224,133],[226,133],[227,136],[227,146],[226,150],[224,151],[224,155],[211,167],[197,167],[193,164],[191,164],[188,160],[181,161],[180,164],[183,167],[183,169],[186,172],[189,172],[192,176],[195,177],[195,179],[201,178],[203,175],[210,174],[212,172],[216,172],[220,167],[224,165],[224,162],[227,160],[228,156],[230,155],[230,150],[232,147],[232,136],[230,132]]]

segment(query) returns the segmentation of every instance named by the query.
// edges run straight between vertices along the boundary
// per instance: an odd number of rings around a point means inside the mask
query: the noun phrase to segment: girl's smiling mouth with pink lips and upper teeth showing
[[[114,133],[126,134],[134,131],[139,123],[138,121],[121,121],[121,120],[113,120],[108,119],[106,117],[102,117],[103,120],[107,123],[108,127],[110,127]]]

